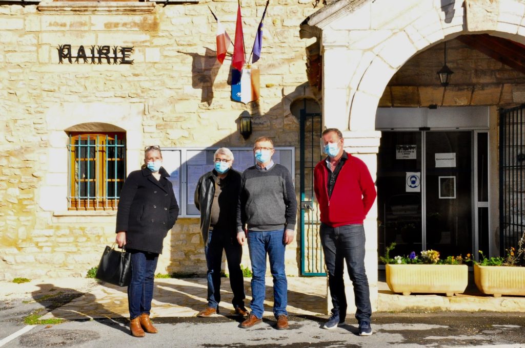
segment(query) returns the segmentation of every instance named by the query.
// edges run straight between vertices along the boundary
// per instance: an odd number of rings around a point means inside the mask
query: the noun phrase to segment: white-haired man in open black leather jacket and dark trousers
[[[240,173],[232,168],[233,154],[222,147],[215,151],[214,169],[199,178],[195,189],[195,206],[201,212],[201,232],[207,263],[208,305],[197,317],[218,313],[220,302],[220,268],[223,249],[228,263],[235,312],[246,317],[244,279],[240,269],[243,247],[237,242],[236,214],[240,192]]]

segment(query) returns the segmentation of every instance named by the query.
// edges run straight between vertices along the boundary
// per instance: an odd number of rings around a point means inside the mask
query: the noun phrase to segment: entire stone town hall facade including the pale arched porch
[[[241,1],[247,51],[265,3]],[[140,166],[146,145],[249,147],[270,135],[276,146],[296,150],[299,198],[304,173],[296,111],[302,99],[320,105],[322,126],[343,131],[346,150],[366,162],[374,179],[382,136],[376,115],[400,107],[425,115],[436,108],[485,107],[488,171],[498,177],[497,108],[525,102],[525,74],[472,48],[465,36],[525,44],[522,1],[272,1],[257,63],[261,97],[248,105],[230,100],[230,58],[223,66],[216,60],[216,24],[208,6],[233,39],[234,0],[0,6],[0,279],[82,276],[113,241],[113,209],[68,208],[69,136],[82,132],[125,134],[127,172]],[[455,71],[446,88],[436,75],[445,42],[447,64]],[[133,64],[108,64],[107,56],[95,64],[69,63],[67,55],[60,63],[61,45],[71,45],[77,57],[80,46],[110,46],[108,55],[114,46],[132,46],[124,58]],[[252,116],[247,140],[239,134],[243,111]],[[499,247],[499,187],[491,181],[487,202],[491,254]],[[365,230],[376,309],[377,204]],[[299,237],[286,260],[287,274],[300,275]],[[249,265],[247,251],[243,264]],[[159,272],[204,270],[198,221],[182,218],[165,240]],[[353,303],[350,286],[347,293]]]

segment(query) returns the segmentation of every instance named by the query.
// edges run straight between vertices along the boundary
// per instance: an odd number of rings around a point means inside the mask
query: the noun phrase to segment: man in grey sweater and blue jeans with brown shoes
[[[255,140],[256,165],[241,177],[240,204],[237,212],[237,240],[248,241],[251,262],[251,312],[241,328],[262,321],[266,292],[266,254],[274,277],[274,316],[278,330],[288,329],[288,282],[285,273],[285,246],[293,241],[297,200],[290,172],[275,164],[274,143],[270,138]],[[247,230],[245,225],[248,225]],[[247,235],[245,233],[247,231]]]

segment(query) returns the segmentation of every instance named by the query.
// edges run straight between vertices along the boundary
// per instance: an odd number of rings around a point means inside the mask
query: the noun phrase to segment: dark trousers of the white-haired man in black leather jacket
[[[233,307],[244,307],[244,279],[240,269],[243,247],[232,237],[230,231],[209,231],[208,244],[204,247],[208,267],[208,307],[217,308],[220,302],[220,269],[223,249],[228,263],[230,287],[233,291]]]

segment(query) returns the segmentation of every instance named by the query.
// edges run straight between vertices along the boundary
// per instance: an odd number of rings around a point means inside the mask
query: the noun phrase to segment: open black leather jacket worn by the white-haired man
[[[201,233],[204,245],[208,244],[216,180],[217,172],[214,169],[199,178],[197,187],[195,188],[195,206],[201,212]],[[219,208],[221,209],[221,214],[223,209],[228,212],[227,226],[223,227],[226,227],[227,230],[231,231],[232,238],[237,238],[236,218],[237,205],[239,204],[240,173],[232,168],[229,170],[225,180],[228,189],[225,190],[223,188],[223,192],[219,199]]]

